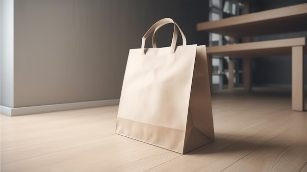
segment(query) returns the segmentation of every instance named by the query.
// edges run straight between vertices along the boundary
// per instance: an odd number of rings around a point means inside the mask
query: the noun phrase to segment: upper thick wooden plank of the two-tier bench
[[[233,37],[305,31],[307,30],[306,9],[307,3],[302,3],[217,21],[202,22],[197,24],[197,30]]]

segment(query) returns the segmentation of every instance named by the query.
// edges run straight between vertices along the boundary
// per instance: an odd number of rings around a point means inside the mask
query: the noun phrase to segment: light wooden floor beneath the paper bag
[[[1,115],[1,172],[307,172],[307,112],[291,97],[222,92],[216,141],[181,155],[116,135],[117,106]]]

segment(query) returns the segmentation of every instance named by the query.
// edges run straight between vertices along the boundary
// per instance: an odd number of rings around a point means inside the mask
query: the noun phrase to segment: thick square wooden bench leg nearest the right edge
[[[303,47],[292,47],[292,110],[304,111]]]

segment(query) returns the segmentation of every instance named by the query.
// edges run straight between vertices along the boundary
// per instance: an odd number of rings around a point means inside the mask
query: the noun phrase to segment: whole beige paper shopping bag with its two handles
[[[171,47],[145,49],[149,35],[168,23]],[[178,30],[183,45],[176,47]],[[116,133],[179,153],[214,140],[205,45],[186,45],[170,18],[145,33],[141,49],[129,51]]]

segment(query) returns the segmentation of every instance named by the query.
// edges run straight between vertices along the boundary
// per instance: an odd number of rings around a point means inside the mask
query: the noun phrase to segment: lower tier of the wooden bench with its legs
[[[306,38],[207,47],[208,64],[212,64],[212,55],[233,58],[292,55],[292,110],[296,111],[304,111],[304,52],[307,52]],[[229,67],[231,68],[229,71],[233,71],[233,65],[229,65]],[[212,73],[211,66],[209,67],[209,72]],[[211,73],[210,75],[212,75]],[[244,73],[244,77],[250,77],[250,75],[249,73]],[[246,80],[250,80],[250,78],[245,78],[244,81]],[[229,87],[233,89],[233,73],[230,73],[229,81]]]

